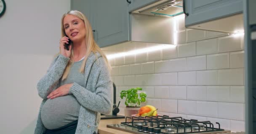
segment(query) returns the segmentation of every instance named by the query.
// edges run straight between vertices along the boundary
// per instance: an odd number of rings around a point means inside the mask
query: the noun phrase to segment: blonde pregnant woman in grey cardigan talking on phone
[[[110,65],[83,13],[61,18],[60,52],[37,83],[43,101],[35,134],[97,134],[100,113],[112,111]]]

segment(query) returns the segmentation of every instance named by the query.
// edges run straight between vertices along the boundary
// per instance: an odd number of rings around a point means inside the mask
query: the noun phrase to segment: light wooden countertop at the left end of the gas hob
[[[126,131],[112,129],[107,124],[121,124],[125,119],[104,119],[99,122],[98,134],[133,134]]]

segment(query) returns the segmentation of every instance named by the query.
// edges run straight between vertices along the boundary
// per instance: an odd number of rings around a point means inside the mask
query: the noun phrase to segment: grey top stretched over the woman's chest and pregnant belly
[[[60,86],[76,82],[85,87],[85,76],[79,72],[82,62],[83,60],[80,60],[73,64],[67,79],[59,80]],[[74,95],[69,94],[48,99],[43,105],[41,119],[45,128],[57,129],[78,120],[79,111],[80,103]]]

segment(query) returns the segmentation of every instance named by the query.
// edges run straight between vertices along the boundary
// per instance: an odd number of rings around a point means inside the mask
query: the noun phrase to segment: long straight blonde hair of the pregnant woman
[[[81,13],[80,11],[77,11],[77,10],[70,10],[69,12],[65,13],[62,18],[61,18],[61,37],[64,37],[66,36],[66,33],[65,33],[65,29],[64,29],[64,26],[63,26],[63,19],[66,15],[75,15],[77,18],[80,18],[81,20],[84,21],[85,23],[85,45],[86,45],[86,53],[85,53],[85,58],[83,59],[83,62],[82,62],[82,65],[81,65],[81,68],[80,68],[80,72],[81,73],[84,73],[85,71],[85,63],[86,63],[86,60],[89,56],[89,54],[91,52],[94,53],[94,55],[96,56],[96,59],[98,60],[98,56],[96,55],[96,52],[99,52],[101,54],[101,56],[104,58],[104,62],[107,64],[108,66],[108,69],[109,71],[111,70],[111,66],[107,60],[107,57],[106,55],[104,54],[104,52],[101,50],[101,48],[96,44],[96,42],[94,41],[93,39],[93,31],[92,31],[92,28],[91,28],[91,24],[90,22],[88,21],[88,19],[85,17],[85,15],[83,15],[83,13]],[[72,48],[73,48],[73,44],[72,45]],[[73,53],[73,50],[71,49],[71,55],[70,57],[73,57],[74,56],[74,53]],[[73,60],[69,60],[65,70],[64,70],[64,73],[62,75],[62,80],[66,79],[68,74],[69,74],[69,71],[70,71],[70,68],[72,67],[72,64],[74,63]]]

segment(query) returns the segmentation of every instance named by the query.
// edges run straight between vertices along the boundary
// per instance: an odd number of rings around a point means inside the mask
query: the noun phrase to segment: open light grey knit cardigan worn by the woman
[[[98,60],[96,58],[98,57]],[[47,96],[59,85],[70,58],[59,54],[51,63],[47,73],[37,83],[38,94],[43,101],[40,106],[34,134],[43,134],[45,127],[41,121],[41,109]],[[97,134],[100,113],[112,111],[113,84],[103,57],[91,52],[85,64],[85,88],[74,83],[69,90],[81,104],[75,134]]]

